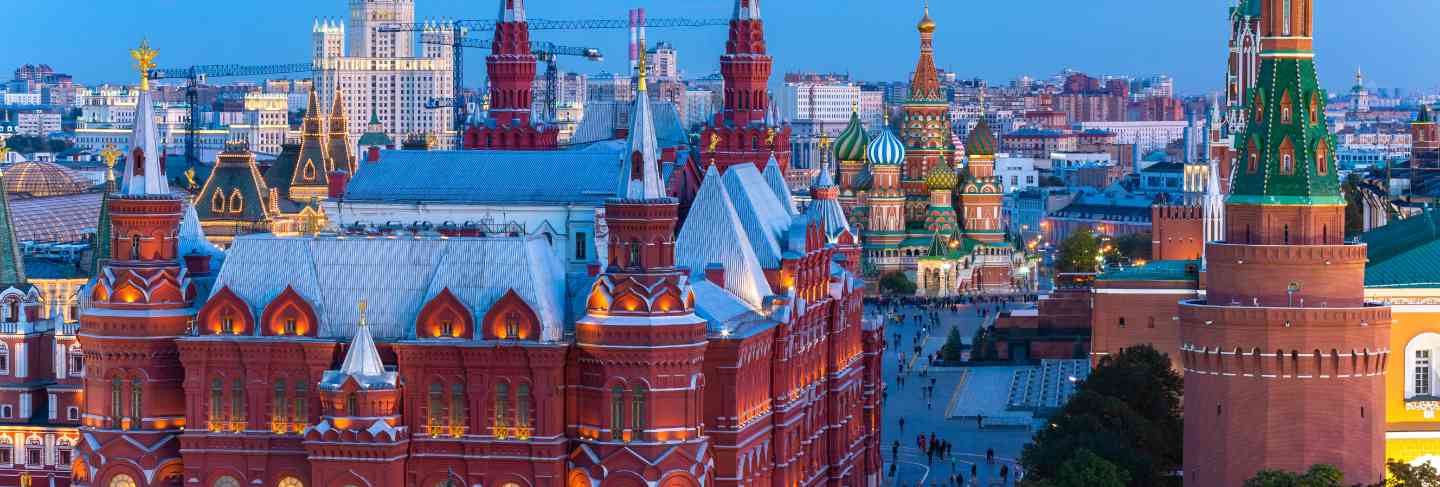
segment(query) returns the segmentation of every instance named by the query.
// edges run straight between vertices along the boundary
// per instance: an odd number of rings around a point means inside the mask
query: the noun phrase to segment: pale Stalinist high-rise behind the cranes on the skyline
[[[373,111],[390,138],[449,133],[452,110],[426,108],[431,99],[454,97],[452,48],[446,45],[449,26],[435,23],[419,36],[416,32],[382,32],[384,24],[413,22],[415,0],[350,0],[347,23],[317,20],[312,27],[314,75],[320,107],[330,107],[340,88],[346,117],[370,120]],[[351,140],[364,128],[361,124],[350,127]],[[436,140],[448,144],[452,137]]]

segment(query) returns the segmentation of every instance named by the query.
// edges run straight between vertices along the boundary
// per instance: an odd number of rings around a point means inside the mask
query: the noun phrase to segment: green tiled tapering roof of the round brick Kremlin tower
[[[1251,122],[1236,138],[1238,157],[1227,203],[1345,205],[1335,167],[1339,146],[1325,122],[1325,91],[1316,82],[1313,58],[1263,58],[1246,112]]]

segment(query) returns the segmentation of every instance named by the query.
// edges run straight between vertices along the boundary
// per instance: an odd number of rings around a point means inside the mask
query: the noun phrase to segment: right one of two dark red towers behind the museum
[[[760,0],[736,0],[730,39],[720,56],[724,76],[724,108],[700,133],[701,173],[719,166],[723,174],[736,164],[753,163],[765,170],[770,154],[785,174],[791,167],[791,128],[766,120],[772,59],[765,53],[765,20]]]

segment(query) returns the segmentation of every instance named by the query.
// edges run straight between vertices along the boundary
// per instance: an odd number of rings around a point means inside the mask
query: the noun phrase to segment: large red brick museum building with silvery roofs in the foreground
[[[710,167],[681,228],[644,76],[632,114],[577,272],[488,229],[249,235],[210,272],[179,199],[115,195],[79,484],[878,487],[884,329],[837,190],[802,213],[773,160]]]

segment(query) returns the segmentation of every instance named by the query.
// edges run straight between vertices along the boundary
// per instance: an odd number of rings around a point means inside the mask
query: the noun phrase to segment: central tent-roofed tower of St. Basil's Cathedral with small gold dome
[[[916,30],[920,32],[920,59],[914,63],[910,98],[904,102],[900,122],[900,140],[906,146],[900,179],[907,223],[924,222],[929,205],[924,177],[930,174],[930,167],[948,164],[955,151],[950,147],[950,104],[940,91],[940,75],[935,69],[935,20],[930,19],[929,4]]]

